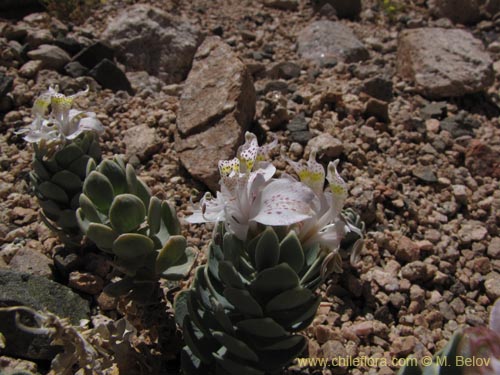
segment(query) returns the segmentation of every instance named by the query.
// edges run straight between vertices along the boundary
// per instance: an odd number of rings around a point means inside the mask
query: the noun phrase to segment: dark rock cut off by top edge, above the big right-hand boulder
[[[466,25],[479,21],[479,3],[479,0],[428,0],[427,5],[433,16]]]

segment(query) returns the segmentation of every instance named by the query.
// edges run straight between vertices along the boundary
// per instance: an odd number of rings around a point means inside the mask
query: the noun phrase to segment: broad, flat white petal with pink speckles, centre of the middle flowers
[[[288,178],[271,180],[252,205],[251,219],[265,225],[291,225],[310,218],[315,195],[307,186]]]

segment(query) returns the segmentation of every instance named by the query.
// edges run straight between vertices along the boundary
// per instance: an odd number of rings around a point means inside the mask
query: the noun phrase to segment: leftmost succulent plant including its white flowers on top
[[[87,162],[99,162],[98,135],[104,131],[94,112],[73,109],[88,89],[65,96],[49,88],[33,104],[33,122],[17,133],[34,145],[30,173],[42,220],[68,245],[77,246],[81,233],[75,211]]]

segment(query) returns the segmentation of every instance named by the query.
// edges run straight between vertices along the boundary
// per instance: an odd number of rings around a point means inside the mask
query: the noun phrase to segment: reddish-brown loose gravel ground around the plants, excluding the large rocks
[[[482,93],[431,101],[396,74],[401,30],[451,27],[450,21],[431,18],[423,1],[408,2],[391,17],[375,1],[364,1],[358,20],[341,22],[365,44],[370,57],[318,67],[299,59],[296,37],[314,20],[332,16],[313,13],[305,1],[299,1],[297,11],[257,1],[148,3],[191,20],[206,35],[222,34],[253,73],[257,104],[252,129],[262,139],[277,137],[280,151],[294,160],[308,157],[313,145],[320,146],[324,163],[341,159],[341,175],[350,193],[346,205],[361,213],[366,241],[360,261],[346,265],[343,274],[321,288],[323,302],[304,333],[309,338],[305,357],[366,356],[386,358],[388,363],[410,354],[421,358],[442,348],[457,329],[487,321],[490,307],[500,297],[498,75]],[[70,34],[97,39],[121,7],[120,1],[107,1]],[[68,30],[68,24],[44,18],[36,28]],[[493,62],[500,61],[500,49],[494,44],[499,22],[485,20],[465,29],[483,42]],[[295,64],[298,74],[275,78],[272,68],[278,63]],[[0,72],[14,78],[9,94],[13,103],[0,122],[0,268],[13,268],[11,261],[21,249],[49,259],[60,249],[59,241],[39,221],[29,187],[32,149],[15,134],[32,121],[33,99],[54,82],[67,93],[89,84],[90,93],[79,105],[98,113],[106,128],[101,138],[103,157],[126,155],[154,195],[175,203],[180,216],[189,213],[189,199],[199,199],[206,188],[182,167],[174,150],[183,82],[145,82],[127,72],[136,90],[131,96],[102,89],[90,77],[71,78],[54,70],[25,78],[21,65],[0,66]],[[366,82],[379,75],[392,86],[391,98],[382,102],[381,111],[369,110]],[[376,94],[383,87],[376,85]],[[309,133],[293,132],[291,124],[305,125]],[[134,149],[140,137],[127,139],[128,129],[136,125],[155,130],[152,151],[146,155],[141,146]],[[330,138],[325,140],[325,135]],[[291,173],[279,152],[275,164]],[[200,250],[197,262],[203,262],[211,228],[185,225],[184,234]],[[106,281],[109,274],[100,275],[97,268],[79,271]],[[186,280],[165,289],[167,300],[188,284]],[[78,290],[78,279],[75,285]],[[94,315],[118,319],[127,310],[106,300],[99,289],[85,293],[80,288],[79,293],[91,302]],[[149,333],[144,335],[146,346],[165,348],[155,344],[154,334]],[[175,367],[174,349],[162,358],[170,357]],[[389,375],[394,370],[393,366],[293,365],[287,373]]]

